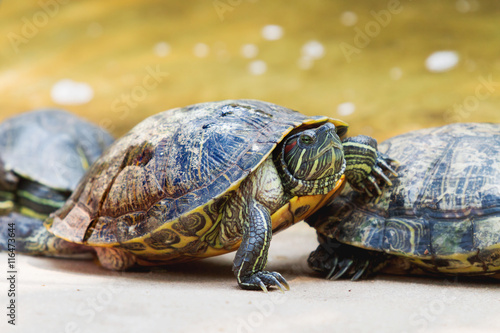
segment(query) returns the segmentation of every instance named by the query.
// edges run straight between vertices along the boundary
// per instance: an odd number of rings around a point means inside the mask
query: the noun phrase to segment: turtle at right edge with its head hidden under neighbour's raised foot
[[[346,186],[306,220],[328,279],[377,272],[500,273],[500,124],[456,123],[379,144],[398,177],[379,197]]]

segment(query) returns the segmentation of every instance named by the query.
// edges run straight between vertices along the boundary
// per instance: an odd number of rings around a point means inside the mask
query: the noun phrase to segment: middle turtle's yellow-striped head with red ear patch
[[[298,131],[281,151],[283,181],[293,195],[325,194],[345,170],[342,142],[332,123]]]

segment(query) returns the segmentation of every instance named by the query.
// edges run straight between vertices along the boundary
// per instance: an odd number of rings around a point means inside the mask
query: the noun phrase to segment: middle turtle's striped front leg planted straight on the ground
[[[270,286],[276,286],[282,292],[290,290],[280,273],[264,271],[272,237],[269,209],[257,201],[251,202],[248,221],[243,228],[243,239],[233,262],[239,286],[264,292]]]

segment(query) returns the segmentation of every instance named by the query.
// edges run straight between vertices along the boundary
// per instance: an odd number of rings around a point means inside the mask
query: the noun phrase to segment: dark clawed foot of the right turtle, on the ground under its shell
[[[385,262],[386,255],[363,250],[354,246],[332,241],[329,248],[324,244],[309,255],[309,267],[325,275],[328,280],[366,279],[375,275]]]

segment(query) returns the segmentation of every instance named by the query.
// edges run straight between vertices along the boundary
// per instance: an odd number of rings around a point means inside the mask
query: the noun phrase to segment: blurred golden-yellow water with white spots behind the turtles
[[[120,136],[253,98],[379,140],[500,122],[499,14],[486,0],[4,0],[0,121],[59,107]]]

